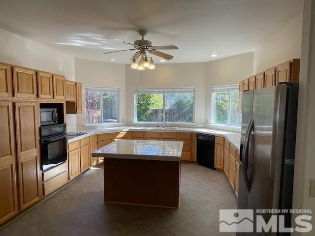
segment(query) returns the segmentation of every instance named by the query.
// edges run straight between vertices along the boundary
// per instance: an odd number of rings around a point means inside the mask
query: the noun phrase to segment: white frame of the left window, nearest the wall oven
[[[88,92],[86,89],[95,89],[95,92],[100,92],[99,94],[99,107],[100,107],[100,120],[103,120],[103,99],[101,93],[116,93],[117,94],[117,101],[116,101],[116,114],[117,114],[117,119],[116,121],[109,121],[109,122],[100,122],[100,123],[92,123],[88,124],[87,123],[87,116],[86,116],[86,92]],[[119,88],[109,88],[109,87],[93,87],[93,86],[86,86],[84,87],[84,120],[85,120],[85,125],[104,125],[104,124],[114,124],[114,123],[119,123],[120,122],[120,89]]]

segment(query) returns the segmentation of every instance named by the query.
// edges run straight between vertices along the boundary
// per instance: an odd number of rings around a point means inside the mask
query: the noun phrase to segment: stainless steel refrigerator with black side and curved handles
[[[238,209],[255,215],[256,209],[292,208],[297,102],[298,83],[243,93]],[[263,214],[266,222],[270,216]],[[284,225],[290,224],[287,213]],[[237,236],[256,234],[269,235]]]

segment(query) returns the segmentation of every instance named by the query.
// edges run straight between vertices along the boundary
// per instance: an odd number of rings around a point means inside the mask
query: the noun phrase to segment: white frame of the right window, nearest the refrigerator
[[[220,91],[216,91],[213,92],[214,89],[231,89],[230,91],[225,91],[225,92],[229,92],[229,96],[228,96],[228,102],[229,102],[229,111],[228,111],[228,123],[227,124],[221,124],[221,123],[216,123],[216,115],[217,115],[217,93]],[[231,96],[230,96],[230,92],[233,92],[232,89],[235,89],[239,92],[239,85],[226,85],[226,86],[213,86],[211,87],[211,124],[212,125],[218,125],[218,126],[227,126],[227,127],[237,127],[240,128],[242,124],[240,125],[231,125]],[[224,92],[224,91],[221,91]],[[234,91],[236,92],[236,91]],[[239,97],[239,96],[238,96]],[[239,104],[238,104],[239,105]]]

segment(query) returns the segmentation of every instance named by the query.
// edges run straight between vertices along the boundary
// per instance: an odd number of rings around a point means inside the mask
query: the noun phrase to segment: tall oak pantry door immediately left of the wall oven
[[[15,103],[20,210],[42,197],[38,110],[36,102]]]

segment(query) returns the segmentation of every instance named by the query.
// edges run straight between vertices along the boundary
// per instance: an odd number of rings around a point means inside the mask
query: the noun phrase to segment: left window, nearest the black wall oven
[[[119,89],[85,88],[86,124],[118,122]]]

